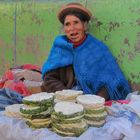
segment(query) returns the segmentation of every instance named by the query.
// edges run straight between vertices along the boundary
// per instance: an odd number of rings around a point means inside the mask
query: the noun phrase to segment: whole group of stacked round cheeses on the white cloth
[[[57,102],[54,102],[57,100]],[[23,104],[7,106],[5,115],[22,118],[33,129],[50,128],[61,136],[80,136],[89,126],[102,127],[105,99],[83,91],[41,92],[23,98]]]

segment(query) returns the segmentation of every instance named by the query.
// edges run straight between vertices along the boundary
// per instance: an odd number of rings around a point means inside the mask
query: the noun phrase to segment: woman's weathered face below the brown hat
[[[86,31],[86,23],[74,15],[67,15],[64,21],[64,32],[68,39],[77,43],[83,39]]]

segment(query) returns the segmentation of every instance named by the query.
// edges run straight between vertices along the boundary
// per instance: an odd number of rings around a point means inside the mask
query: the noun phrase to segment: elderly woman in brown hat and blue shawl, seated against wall
[[[69,3],[58,12],[65,35],[57,36],[43,65],[43,90],[83,90],[106,100],[125,99],[128,82],[107,46],[86,33],[91,12]]]

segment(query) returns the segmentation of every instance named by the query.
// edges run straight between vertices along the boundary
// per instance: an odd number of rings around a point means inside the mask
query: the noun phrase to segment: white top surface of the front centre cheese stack
[[[72,102],[62,101],[55,104],[54,110],[57,113],[63,113],[63,115],[71,115],[78,112],[82,112],[83,106]]]

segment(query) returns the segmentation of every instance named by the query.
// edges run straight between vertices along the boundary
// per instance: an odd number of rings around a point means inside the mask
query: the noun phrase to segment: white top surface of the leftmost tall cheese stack
[[[47,100],[53,98],[53,95],[47,92],[41,92],[41,93],[36,93],[32,94],[28,97],[24,97],[23,100],[27,101],[42,101],[42,100]]]

